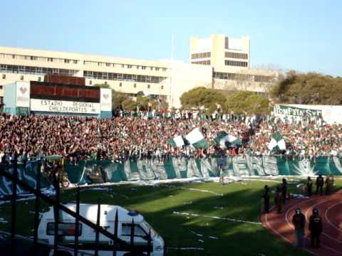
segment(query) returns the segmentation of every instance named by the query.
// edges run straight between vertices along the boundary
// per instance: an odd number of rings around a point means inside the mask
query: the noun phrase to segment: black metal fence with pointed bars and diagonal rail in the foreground
[[[125,240],[122,240],[118,238],[118,210],[115,214],[115,220],[114,220],[114,230],[113,233],[109,232],[102,226],[100,226],[100,203],[98,203],[98,210],[97,210],[97,221],[96,223],[91,222],[87,218],[84,218],[82,215],[80,215],[80,188],[77,188],[76,192],[76,212],[73,210],[70,210],[66,206],[60,203],[60,188],[59,188],[59,174],[54,176],[53,184],[56,188],[56,196],[55,198],[51,198],[46,196],[41,192],[41,171],[38,165],[38,168],[35,169],[35,179],[36,183],[35,186],[31,186],[30,183],[28,183],[27,180],[21,179],[24,177],[21,176],[19,178],[18,168],[17,168],[17,161],[13,161],[13,165],[11,166],[11,169],[5,169],[4,166],[0,165],[0,177],[1,179],[7,179],[8,181],[11,181],[11,253],[12,255],[16,255],[17,247],[16,247],[16,198],[18,195],[18,188],[20,188],[23,191],[27,191],[28,193],[33,193],[35,198],[34,203],[34,228],[33,228],[33,255],[37,255],[38,253],[38,225],[39,225],[39,208],[41,201],[44,201],[48,203],[49,205],[53,206],[53,218],[54,218],[54,242],[53,242],[53,252],[58,252],[58,250],[61,249],[60,245],[58,245],[58,241],[61,238],[61,235],[59,234],[58,225],[59,223],[59,217],[60,217],[60,211],[67,213],[68,215],[71,215],[73,218],[76,219],[75,223],[75,234],[74,234],[74,246],[72,247],[72,250],[69,249],[69,252],[73,251],[73,255],[78,255],[78,251],[80,250],[80,244],[78,241],[79,236],[79,225],[80,223],[84,223],[85,225],[88,225],[90,228],[93,228],[95,230],[95,243],[94,246],[91,248],[91,250],[94,251],[94,255],[98,255],[98,252],[101,250],[106,251],[113,251],[113,255],[117,255],[117,252],[120,251],[126,251],[130,252],[130,255],[142,255],[142,252],[145,253],[145,255],[150,255],[152,252],[152,238],[151,233],[147,235],[147,244],[144,245],[136,245],[135,244],[135,228],[134,228],[134,220],[132,218],[132,224],[131,224],[131,230],[130,230],[130,242],[126,242]],[[25,167],[25,166],[24,166]],[[25,170],[25,168],[24,168]],[[31,177],[32,178],[32,177]],[[103,243],[99,242],[100,234],[105,236],[106,238],[109,238],[111,240],[111,243],[108,243],[106,245],[103,245]],[[83,248],[87,249],[87,248]],[[165,250],[164,250],[165,252]],[[69,254],[71,255],[71,254]]]

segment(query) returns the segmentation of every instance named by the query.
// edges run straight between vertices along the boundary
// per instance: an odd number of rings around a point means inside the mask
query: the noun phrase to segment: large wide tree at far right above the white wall
[[[341,105],[342,80],[318,73],[290,70],[274,85],[270,96],[277,103]]]

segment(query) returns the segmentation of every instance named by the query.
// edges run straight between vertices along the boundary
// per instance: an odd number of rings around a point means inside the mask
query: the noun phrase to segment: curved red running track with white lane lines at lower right
[[[323,221],[321,247],[318,249],[309,247],[309,218],[315,207],[318,208]],[[292,216],[296,208],[301,208],[301,212],[306,215],[304,250],[313,255],[342,256],[342,190],[331,196],[292,199],[283,206],[282,213],[278,214],[273,209],[270,213],[261,215],[261,222],[271,233],[293,244],[295,237]]]

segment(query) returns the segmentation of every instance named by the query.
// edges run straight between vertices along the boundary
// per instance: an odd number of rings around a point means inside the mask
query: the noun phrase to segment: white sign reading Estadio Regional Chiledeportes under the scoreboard
[[[100,103],[31,99],[31,111],[100,114]]]

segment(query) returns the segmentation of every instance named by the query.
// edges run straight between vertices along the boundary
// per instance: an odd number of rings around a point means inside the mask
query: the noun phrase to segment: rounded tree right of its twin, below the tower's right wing
[[[268,114],[269,100],[257,92],[238,91],[227,97],[224,110],[235,114]]]

